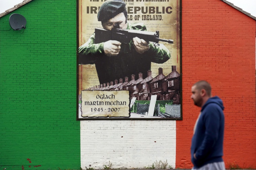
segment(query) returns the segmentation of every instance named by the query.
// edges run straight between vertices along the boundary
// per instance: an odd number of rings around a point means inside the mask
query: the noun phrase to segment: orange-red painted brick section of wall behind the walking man
[[[177,121],[176,168],[191,168],[190,145],[200,108],[191,86],[210,82],[224,103],[226,168],[256,168],[256,21],[221,0],[182,0],[183,120]]]

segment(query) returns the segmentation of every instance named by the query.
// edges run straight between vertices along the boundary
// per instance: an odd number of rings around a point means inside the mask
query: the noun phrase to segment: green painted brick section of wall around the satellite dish
[[[0,18],[0,169],[79,169],[79,129],[76,0],[33,0]]]

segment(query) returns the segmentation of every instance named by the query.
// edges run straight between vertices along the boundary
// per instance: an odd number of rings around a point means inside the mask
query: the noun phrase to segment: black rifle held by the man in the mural
[[[139,31],[139,30],[123,30],[123,29],[112,29],[111,31],[95,28],[95,44],[106,42],[108,40],[116,40],[121,43],[129,43],[134,37],[145,40],[146,42],[154,42],[158,44],[159,41],[173,43],[173,40],[159,38],[159,31]]]

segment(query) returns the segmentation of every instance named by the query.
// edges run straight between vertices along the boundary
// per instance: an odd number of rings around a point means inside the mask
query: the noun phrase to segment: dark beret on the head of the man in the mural
[[[123,0],[107,0],[99,9],[98,21],[106,22],[125,10],[125,2]]]

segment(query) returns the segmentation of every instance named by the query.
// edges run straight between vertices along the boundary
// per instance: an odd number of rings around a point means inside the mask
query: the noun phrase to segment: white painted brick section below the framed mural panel
[[[152,167],[167,160],[175,167],[175,120],[83,120],[81,167],[103,169]]]

